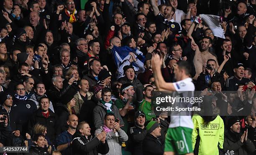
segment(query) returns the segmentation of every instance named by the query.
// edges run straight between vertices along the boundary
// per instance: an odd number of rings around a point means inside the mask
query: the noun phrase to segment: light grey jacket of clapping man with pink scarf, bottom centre
[[[102,133],[104,130],[102,129],[102,126],[100,129],[97,129],[95,131],[95,135]],[[108,142],[109,152],[106,155],[122,155],[122,146],[121,143],[123,141],[128,140],[128,135],[124,132],[124,130],[120,129],[120,131],[116,133],[113,131],[110,131],[107,133],[106,140]]]

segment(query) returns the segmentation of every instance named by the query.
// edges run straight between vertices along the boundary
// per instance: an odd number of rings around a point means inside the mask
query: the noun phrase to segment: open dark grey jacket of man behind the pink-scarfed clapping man
[[[107,107],[103,105],[100,101],[98,101],[97,106],[93,110],[93,117],[94,117],[94,125],[96,129],[99,129],[100,126],[104,125],[104,117],[107,113]],[[113,112],[115,118],[120,120],[120,126],[124,125],[123,119],[119,113],[118,108],[113,104]]]

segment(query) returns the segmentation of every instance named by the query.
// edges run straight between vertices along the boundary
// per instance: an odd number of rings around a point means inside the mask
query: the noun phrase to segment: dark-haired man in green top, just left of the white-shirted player
[[[140,102],[139,110],[143,111],[146,114],[146,121],[151,120],[153,117],[156,117],[154,111],[152,111],[151,97],[154,87],[152,85],[147,85],[143,90],[143,100]]]

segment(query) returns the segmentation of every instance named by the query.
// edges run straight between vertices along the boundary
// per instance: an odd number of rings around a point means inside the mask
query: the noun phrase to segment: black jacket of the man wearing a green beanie
[[[143,140],[143,155],[163,155],[164,145],[158,138],[147,134]]]

